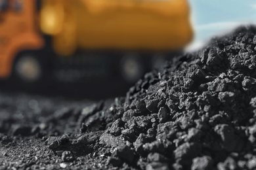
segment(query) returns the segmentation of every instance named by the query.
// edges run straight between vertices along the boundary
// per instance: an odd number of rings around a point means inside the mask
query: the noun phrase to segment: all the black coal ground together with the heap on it
[[[256,28],[113,101],[0,93],[0,169],[256,169]]]

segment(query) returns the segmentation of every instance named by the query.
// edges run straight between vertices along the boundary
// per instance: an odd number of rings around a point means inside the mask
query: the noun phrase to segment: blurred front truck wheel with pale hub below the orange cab
[[[13,76],[22,85],[28,86],[41,82],[43,78],[43,63],[33,54],[18,56],[13,67]]]

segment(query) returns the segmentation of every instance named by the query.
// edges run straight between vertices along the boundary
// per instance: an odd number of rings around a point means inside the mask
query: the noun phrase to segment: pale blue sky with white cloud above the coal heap
[[[256,24],[255,0],[188,0],[195,31],[192,46],[241,24]]]

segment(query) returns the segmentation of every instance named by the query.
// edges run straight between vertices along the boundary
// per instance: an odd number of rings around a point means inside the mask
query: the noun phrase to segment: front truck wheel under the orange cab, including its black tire
[[[22,52],[12,67],[12,79],[22,88],[45,86],[50,78],[47,58],[41,58],[39,52]],[[47,77],[49,76],[49,77]]]

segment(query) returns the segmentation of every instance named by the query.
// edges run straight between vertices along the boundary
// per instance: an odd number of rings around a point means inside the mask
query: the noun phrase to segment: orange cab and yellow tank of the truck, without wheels
[[[41,49],[43,35],[51,36],[58,56],[99,49],[174,51],[193,37],[186,0],[42,0],[39,10],[35,0],[7,3],[0,12],[0,78],[10,76],[18,52]]]

